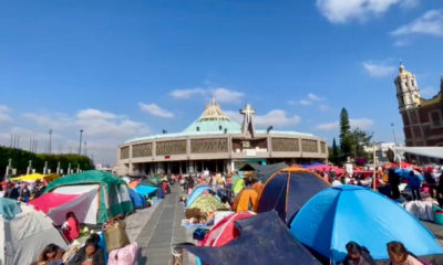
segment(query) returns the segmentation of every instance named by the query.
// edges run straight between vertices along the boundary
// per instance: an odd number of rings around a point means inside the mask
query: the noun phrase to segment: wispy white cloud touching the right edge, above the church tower
[[[443,36],[443,11],[429,10],[422,17],[391,32],[393,36],[412,34]]]

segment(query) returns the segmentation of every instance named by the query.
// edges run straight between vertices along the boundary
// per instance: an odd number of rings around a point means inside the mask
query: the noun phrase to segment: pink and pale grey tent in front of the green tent
[[[62,225],[66,213],[73,212],[80,223],[95,223],[97,203],[93,203],[96,191],[81,194],[45,193],[29,202],[35,210],[44,212],[56,225]]]

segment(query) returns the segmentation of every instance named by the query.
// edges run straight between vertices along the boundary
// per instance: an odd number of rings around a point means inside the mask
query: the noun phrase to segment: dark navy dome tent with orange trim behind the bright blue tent
[[[310,198],[327,188],[329,183],[311,171],[293,168],[280,170],[265,183],[257,212],[275,209],[281,220],[289,224]]]

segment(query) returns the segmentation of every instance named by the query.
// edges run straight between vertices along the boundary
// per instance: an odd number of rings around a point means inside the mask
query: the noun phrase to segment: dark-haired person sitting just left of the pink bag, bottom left
[[[97,240],[97,235],[92,234],[69,265],[105,265],[103,250],[99,246],[99,241],[100,236]]]

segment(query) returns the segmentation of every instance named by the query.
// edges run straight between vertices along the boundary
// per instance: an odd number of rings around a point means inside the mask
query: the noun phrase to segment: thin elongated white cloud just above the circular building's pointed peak
[[[214,96],[218,103],[239,103],[245,96],[241,92],[225,87],[176,89],[171,92],[169,95],[177,99],[188,99],[192,96]]]

